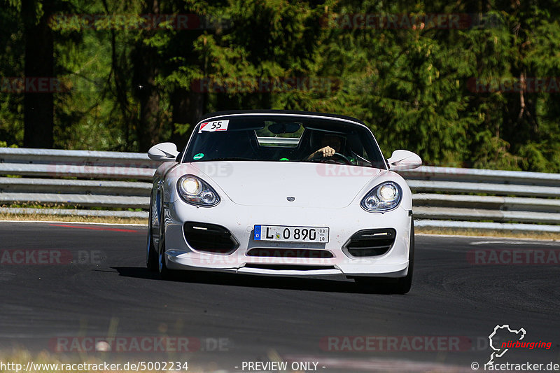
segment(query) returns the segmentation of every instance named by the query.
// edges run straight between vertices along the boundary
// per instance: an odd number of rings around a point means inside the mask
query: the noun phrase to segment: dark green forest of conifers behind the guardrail
[[[283,108],[359,118],[386,156],[560,172],[558,1],[0,4],[0,146],[144,152]]]

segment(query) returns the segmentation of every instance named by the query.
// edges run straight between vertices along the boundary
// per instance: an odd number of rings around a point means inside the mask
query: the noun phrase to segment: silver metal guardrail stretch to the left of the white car
[[[158,164],[145,153],[0,148],[0,175],[25,176],[0,177],[0,205],[76,206],[3,207],[0,213],[147,218],[146,211],[107,209],[146,210],[151,190],[148,181]]]

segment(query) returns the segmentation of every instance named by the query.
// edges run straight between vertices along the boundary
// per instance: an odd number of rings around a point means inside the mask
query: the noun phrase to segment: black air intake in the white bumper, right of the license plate
[[[360,258],[383,255],[393,247],[396,235],[393,228],[360,230],[346,242],[344,251]]]

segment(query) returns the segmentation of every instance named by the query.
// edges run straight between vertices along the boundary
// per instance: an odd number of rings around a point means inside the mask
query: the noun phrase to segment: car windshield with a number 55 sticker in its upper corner
[[[183,162],[325,162],[385,169],[371,132],[337,118],[229,115],[197,125]]]

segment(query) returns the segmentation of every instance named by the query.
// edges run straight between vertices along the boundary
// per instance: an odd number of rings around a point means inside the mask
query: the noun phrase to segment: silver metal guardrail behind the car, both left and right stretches
[[[0,213],[147,218],[158,162],[144,153],[0,148]],[[419,227],[560,232],[560,174],[420,167],[401,171]],[[24,177],[6,177],[6,176]],[[108,180],[109,179],[109,180]],[[101,209],[144,209],[106,211]]]

